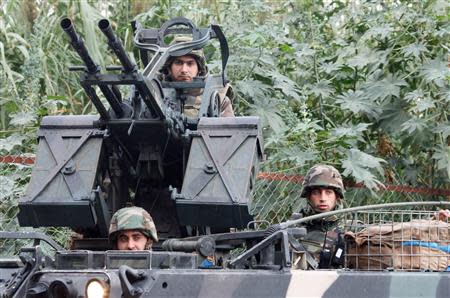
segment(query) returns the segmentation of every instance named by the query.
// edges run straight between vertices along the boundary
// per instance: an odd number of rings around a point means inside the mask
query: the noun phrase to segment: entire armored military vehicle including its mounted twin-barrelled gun
[[[37,232],[0,232],[3,239],[34,240],[0,259],[2,297],[450,296],[443,272],[448,223],[422,208],[447,203],[363,206],[251,228],[258,226],[248,206],[264,156],[261,129],[256,117],[219,117],[228,59],[220,27],[197,28],[184,18],[161,28],[133,23],[140,72],[109,21],[98,26],[121,66],[103,72],[71,20],[61,21],[85,64],[71,69],[80,72],[98,116],[42,120],[31,181],[19,202],[22,226],[71,227],[82,237],[66,250]],[[171,44],[176,34],[192,41]],[[161,79],[169,57],[212,39],[221,48],[220,74]],[[203,89],[196,117],[183,113],[192,89]],[[154,218],[161,239],[152,251],[109,246],[111,214],[130,203]],[[331,246],[324,239],[328,263],[318,266],[305,249],[302,224],[344,214],[347,232]]]

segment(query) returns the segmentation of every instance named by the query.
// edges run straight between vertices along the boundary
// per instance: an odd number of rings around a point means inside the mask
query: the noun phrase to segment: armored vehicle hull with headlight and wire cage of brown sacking
[[[352,219],[346,221],[344,261],[338,268],[312,268],[308,252],[299,246],[307,231],[298,226],[314,219],[311,216],[282,223],[278,230],[171,239],[162,245],[165,250],[58,250],[54,257],[44,258],[39,245],[26,248],[20,259],[1,261],[0,294],[4,297],[449,297],[450,226],[447,221],[438,220],[434,211],[423,209],[449,204],[393,203],[322,214],[346,214],[347,219]],[[39,240],[38,234],[28,236]],[[40,240],[55,245],[45,236]],[[214,245],[195,245],[209,241]],[[100,294],[92,294],[93,289]]]

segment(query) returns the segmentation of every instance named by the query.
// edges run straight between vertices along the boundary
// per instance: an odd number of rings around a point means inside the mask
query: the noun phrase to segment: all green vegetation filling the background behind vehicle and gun
[[[130,21],[159,27],[185,16],[199,26],[222,26],[237,114],[263,122],[264,170],[304,174],[327,162],[370,190],[354,195],[352,205],[403,199],[380,196],[383,183],[448,188],[449,6],[447,0],[3,0],[0,155],[33,154],[45,115],[95,113],[67,70],[80,61],[59,27],[63,16],[74,20],[102,65],[117,61],[97,30],[99,19],[113,22],[138,61]],[[218,53],[207,54],[214,69]],[[29,166],[0,164],[0,230],[18,229],[17,199],[30,173]],[[46,231],[61,242],[67,236]]]

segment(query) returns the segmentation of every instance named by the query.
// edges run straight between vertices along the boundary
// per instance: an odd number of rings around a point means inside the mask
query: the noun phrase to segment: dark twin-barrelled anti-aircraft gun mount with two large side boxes
[[[70,70],[80,72],[99,115],[44,117],[36,164],[19,202],[20,224],[68,226],[86,238],[104,238],[112,213],[132,203],[151,213],[163,239],[245,227],[252,220],[248,203],[262,139],[258,118],[219,117],[228,60],[220,27],[197,28],[185,18],[149,29],[134,22],[143,71],[108,20],[98,27],[120,66],[103,71],[72,21],[61,21],[84,63]],[[177,34],[192,41],[166,43]],[[170,57],[202,49],[212,39],[221,47],[220,74],[164,81],[160,70]],[[184,114],[183,96],[192,89],[203,89],[195,117]]]

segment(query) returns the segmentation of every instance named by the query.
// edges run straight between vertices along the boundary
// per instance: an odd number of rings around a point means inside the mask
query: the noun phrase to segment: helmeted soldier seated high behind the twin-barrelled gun
[[[188,41],[192,41],[192,37],[179,36],[171,42],[171,45]],[[208,67],[206,66],[203,50],[192,50],[187,55],[170,57],[162,67],[161,73],[163,80],[177,82],[191,82],[195,77],[208,76]],[[202,94],[203,89],[189,90],[184,105],[184,113],[187,116],[196,117],[198,115]],[[234,117],[234,110],[230,99],[230,97],[233,98],[233,90],[229,84],[220,90],[219,97],[220,116]]]

